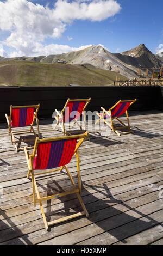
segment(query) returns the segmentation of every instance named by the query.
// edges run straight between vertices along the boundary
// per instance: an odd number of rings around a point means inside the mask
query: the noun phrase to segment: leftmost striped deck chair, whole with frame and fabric
[[[22,139],[15,141],[15,134],[18,133],[27,133],[27,132],[33,132],[35,133],[35,130],[33,128],[34,121],[36,120],[37,125],[37,135],[40,137],[39,132],[39,120],[37,118],[37,112],[39,111],[40,104],[38,105],[32,105],[32,106],[10,106],[10,115],[8,116],[5,114],[5,118],[7,119],[7,124],[9,127],[9,135],[11,136],[11,143],[12,145],[15,145],[15,149],[18,152],[19,150],[24,150],[23,148],[18,148],[16,143],[21,142],[30,142],[33,141],[33,139]],[[36,111],[34,112],[34,110]],[[25,127],[29,126],[30,128],[28,130],[21,130],[21,131],[12,131],[16,127]],[[33,147],[28,147],[28,149],[31,149]]]

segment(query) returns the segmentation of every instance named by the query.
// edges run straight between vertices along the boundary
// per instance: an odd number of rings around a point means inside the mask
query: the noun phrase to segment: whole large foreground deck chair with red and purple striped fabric
[[[33,203],[36,206],[36,203],[40,204],[41,214],[43,217],[43,222],[45,224],[46,230],[50,225],[54,225],[60,222],[64,222],[67,220],[71,220],[72,218],[76,218],[82,215],[89,216],[85,205],[83,203],[82,197],[80,194],[82,193],[82,181],[80,177],[80,160],[78,149],[80,145],[84,142],[88,133],[85,132],[82,135],[70,135],[70,136],[62,136],[56,138],[47,138],[47,139],[39,139],[38,137],[35,140],[35,145],[33,149],[33,154],[29,155],[27,148],[24,147],[27,165],[28,165],[28,173],[27,178],[32,176],[32,188],[33,188]],[[77,142],[77,140],[79,141]],[[70,163],[72,156],[76,156],[77,161],[77,175],[78,175],[78,184],[75,184],[70,171],[68,170],[67,164]],[[57,168],[57,169],[54,169]],[[68,178],[71,181],[72,188],[70,191],[67,191],[69,188],[64,190],[61,188],[61,192],[52,194],[51,196],[41,197],[39,190],[37,188],[37,182],[35,179],[35,175],[43,174],[44,178],[46,178],[46,173],[52,173],[61,171],[62,169],[66,170]],[[39,173],[36,173],[36,170],[41,170]],[[51,178],[52,179],[52,178]],[[36,195],[37,198],[36,198]],[[75,193],[79,199],[80,205],[83,208],[82,212],[78,212],[76,214],[72,214],[66,217],[59,218],[55,221],[47,222],[45,212],[43,210],[42,201],[56,199],[62,196],[66,196],[68,194]]]

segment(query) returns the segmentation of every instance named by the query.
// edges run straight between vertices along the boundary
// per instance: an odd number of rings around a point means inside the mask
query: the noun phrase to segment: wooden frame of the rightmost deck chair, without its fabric
[[[99,113],[96,113],[96,114],[98,115],[99,119],[96,121],[95,124],[97,124],[97,123],[98,123],[99,121],[101,121],[101,120],[104,121],[104,123],[105,123],[106,125],[108,125],[108,126],[110,127],[110,129],[111,129],[112,131],[114,131],[118,136],[121,136],[121,135],[124,135],[124,134],[128,134],[128,133],[133,133],[133,131],[130,129],[128,111],[125,112],[125,113],[126,113],[126,118],[127,118],[127,123],[128,123],[128,125],[124,124],[119,118],[117,118],[117,117],[112,117],[112,116],[111,116],[111,111],[112,111],[112,109],[114,109],[114,108],[118,105],[118,103],[120,103],[120,102],[131,102],[131,103],[130,103],[130,106],[131,106],[135,101],[136,101],[136,99],[135,99],[135,100],[119,100],[114,106],[112,106],[111,108],[109,108],[108,111],[106,111],[105,108],[101,107],[101,109],[103,110],[103,113],[102,113],[102,115],[100,115]],[[130,106],[129,106],[129,107],[130,107]],[[108,123],[108,121],[105,120],[105,115],[109,115],[109,117],[110,117],[110,123]],[[123,125],[123,126],[121,126],[121,129],[127,129],[128,131],[127,131],[127,132],[118,132],[118,131],[116,130],[116,128],[118,128],[118,127],[114,126],[114,124],[113,124],[113,120],[114,120],[114,119],[116,119],[121,125]]]

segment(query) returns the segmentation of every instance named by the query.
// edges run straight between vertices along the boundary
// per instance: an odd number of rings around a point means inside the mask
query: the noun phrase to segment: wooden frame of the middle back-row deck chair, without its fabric
[[[59,125],[60,126],[60,128],[61,128],[61,130],[62,130],[62,132],[64,133],[64,136],[65,135],[67,135],[67,133],[71,133],[71,131],[68,131],[68,132],[66,132],[65,131],[65,122],[64,122],[64,112],[65,112],[65,108],[67,107],[67,105],[68,105],[68,102],[73,102],[73,101],[85,101],[86,103],[85,103],[85,106],[84,106],[84,108],[83,108],[83,112],[82,112],[82,114],[83,114],[83,118],[84,118],[84,129],[86,130],[86,115],[85,115],[85,108],[86,108],[86,106],[89,104],[89,102],[91,101],[91,98],[89,98],[89,99],[78,99],[78,100],[70,100],[69,98],[67,99],[67,101],[66,101],[66,104],[65,104],[65,106],[64,106],[64,108],[62,109],[62,111],[61,111],[61,113],[59,113],[59,111],[57,110],[57,109],[55,109],[55,112],[57,113],[57,115],[55,115],[55,120],[57,121],[57,123],[55,124],[55,127],[54,127],[54,130],[56,129],[56,127]],[[59,119],[61,119],[61,121],[59,121]],[[80,126],[80,124],[78,123],[78,118],[77,119],[74,119],[74,123],[73,123],[73,126],[75,125],[75,124],[77,124],[78,126],[79,126],[79,128],[80,128],[80,130],[82,130],[82,127]],[[72,127],[73,127],[72,126]]]

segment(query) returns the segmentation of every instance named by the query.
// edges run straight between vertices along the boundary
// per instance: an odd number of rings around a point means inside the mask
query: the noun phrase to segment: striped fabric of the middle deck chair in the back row
[[[85,101],[70,101],[65,108],[64,122],[68,123],[74,119],[78,119],[82,114]],[[61,119],[60,119],[61,121]]]

